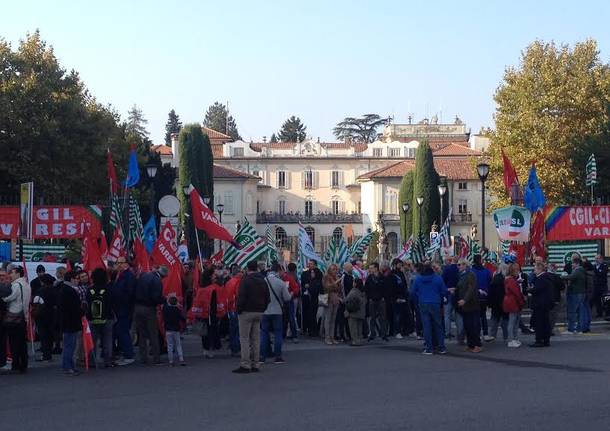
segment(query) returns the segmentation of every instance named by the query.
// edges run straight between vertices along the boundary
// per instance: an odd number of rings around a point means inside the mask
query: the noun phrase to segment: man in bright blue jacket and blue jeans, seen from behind
[[[423,270],[413,281],[412,296],[417,300],[424,331],[424,355],[433,351],[445,354],[445,332],[441,317],[441,304],[448,295],[443,279],[434,273],[426,262]]]

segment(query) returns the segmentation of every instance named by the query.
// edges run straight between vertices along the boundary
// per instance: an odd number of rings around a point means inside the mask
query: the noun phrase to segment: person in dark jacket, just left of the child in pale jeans
[[[149,343],[152,349],[153,364],[161,363],[157,305],[165,302],[161,280],[167,277],[168,272],[165,266],[160,266],[155,271],[145,272],[140,275],[136,283],[134,320],[138,330],[140,360],[144,364],[149,362]]]

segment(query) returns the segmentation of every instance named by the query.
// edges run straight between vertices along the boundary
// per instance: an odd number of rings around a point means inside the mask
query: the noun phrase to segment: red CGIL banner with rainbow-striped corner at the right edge
[[[548,241],[610,238],[610,206],[560,206],[544,209]]]

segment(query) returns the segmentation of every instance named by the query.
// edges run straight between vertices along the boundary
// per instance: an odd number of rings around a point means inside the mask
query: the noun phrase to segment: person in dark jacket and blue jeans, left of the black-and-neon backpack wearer
[[[82,331],[83,308],[78,290],[78,273],[68,271],[59,296],[59,316],[63,332],[62,368],[68,376],[80,374],[74,366],[76,339]]]

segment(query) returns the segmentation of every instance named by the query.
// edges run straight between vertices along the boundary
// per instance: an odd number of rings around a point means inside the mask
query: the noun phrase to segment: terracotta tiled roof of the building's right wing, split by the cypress
[[[434,167],[439,175],[447,177],[448,180],[476,180],[478,178],[476,168],[469,159],[435,159]],[[360,175],[358,179],[370,180],[375,178],[402,178],[407,172],[415,169],[415,161],[403,160],[392,163],[380,169]]]

